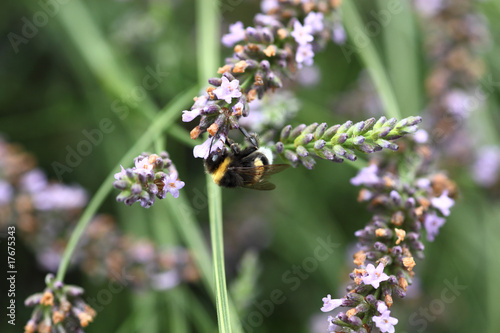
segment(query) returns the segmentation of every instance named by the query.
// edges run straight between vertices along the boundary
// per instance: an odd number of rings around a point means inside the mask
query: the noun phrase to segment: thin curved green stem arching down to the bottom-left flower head
[[[68,241],[68,245],[64,250],[63,257],[61,259],[61,264],[57,271],[57,280],[63,281],[66,271],[68,269],[69,261],[73,252],[75,251],[78,240],[85,231],[85,227],[90,222],[91,218],[97,212],[97,209],[101,206],[104,199],[108,196],[113,188],[113,175],[116,170],[120,169],[120,165],[128,164],[130,161],[138,154],[145,150],[152,142],[158,138],[161,133],[171,126],[174,120],[179,117],[179,110],[189,103],[192,96],[196,94],[198,87],[191,88],[182,94],[178,95],[169,105],[167,105],[164,112],[160,112],[158,116],[152,121],[148,129],[144,131],[144,134],[137,140],[137,142],[127,151],[127,153],[122,157],[119,163],[113,168],[113,171],[105,178],[102,185],[97,190],[97,193],[92,197],[87,208],[83,212],[80,220],[78,221],[75,230],[71,234]]]

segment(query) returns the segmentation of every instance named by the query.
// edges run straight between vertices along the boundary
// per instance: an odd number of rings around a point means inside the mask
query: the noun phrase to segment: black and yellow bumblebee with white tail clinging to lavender
[[[211,152],[205,160],[205,168],[219,186],[269,191],[276,186],[267,179],[290,166],[272,162],[273,155],[268,148],[252,145],[240,150],[232,143],[230,151],[224,147]]]

